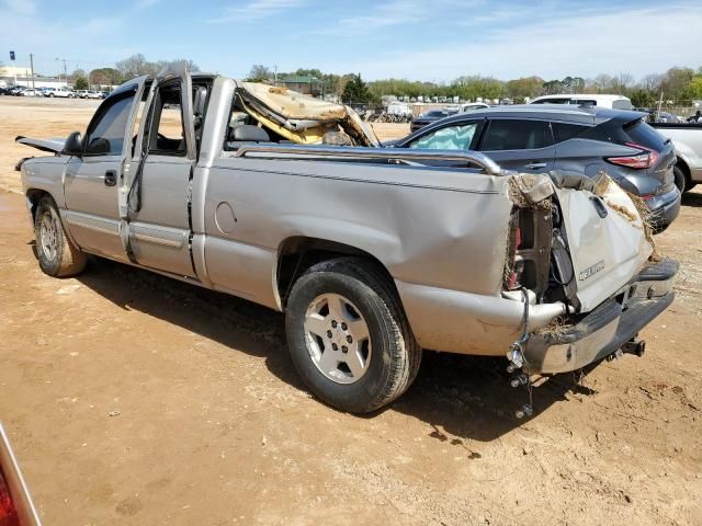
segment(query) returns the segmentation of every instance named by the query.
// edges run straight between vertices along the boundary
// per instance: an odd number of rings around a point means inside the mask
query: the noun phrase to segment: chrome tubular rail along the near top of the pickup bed
[[[500,165],[489,157],[472,150],[409,150],[405,148],[364,148],[346,146],[298,146],[298,145],[271,145],[250,144],[241,145],[235,150],[235,157],[268,157],[267,153],[293,157],[330,157],[388,161],[464,161],[477,164],[489,175],[507,175],[511,172],[502,170]]]

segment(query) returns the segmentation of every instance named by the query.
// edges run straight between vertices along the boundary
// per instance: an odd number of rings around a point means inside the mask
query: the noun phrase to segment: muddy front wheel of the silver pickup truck
[[[43,197],[34,217],[36,256],[45,274],[72,276],[86,267],[87,256],[66,237],[53,199]]]

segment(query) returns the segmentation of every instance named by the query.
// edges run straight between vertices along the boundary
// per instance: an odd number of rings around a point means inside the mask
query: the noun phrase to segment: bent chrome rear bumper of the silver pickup
[[[621,348],[672,302],[678,267],[673,260],[650,263],[576,324],[532,334],[524,345],[530,371],[576,370]]]

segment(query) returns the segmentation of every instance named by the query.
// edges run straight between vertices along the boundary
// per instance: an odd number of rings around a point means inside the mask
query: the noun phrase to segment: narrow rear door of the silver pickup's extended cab
[[[159,73],[145,114],[127,250],[139,265],[192,277],[190,184],[196,148],[190,75]]]

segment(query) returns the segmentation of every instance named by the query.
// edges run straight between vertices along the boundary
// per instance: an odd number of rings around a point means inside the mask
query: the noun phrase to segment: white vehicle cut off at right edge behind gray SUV
[[[673,175],[680,192],[702,183],[702,124],[653,123],[676,148]]]

